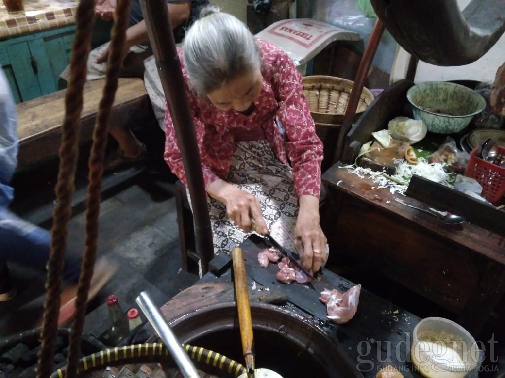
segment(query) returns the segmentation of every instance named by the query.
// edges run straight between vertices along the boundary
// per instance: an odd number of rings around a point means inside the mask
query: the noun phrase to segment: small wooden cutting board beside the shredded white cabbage
[[[407,147],[409,147],[409,143],[394,139],[389,148],[383,148],[379,142],[375,141],[370,146],[370,151],[361,157],[359,165],[392,175],[396,171],[397,165],[403,160]]]

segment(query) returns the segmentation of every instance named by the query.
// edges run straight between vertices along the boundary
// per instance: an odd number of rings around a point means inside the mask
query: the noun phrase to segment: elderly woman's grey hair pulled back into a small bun
[[[187,31],[182,53],[191,88],[206,96],[227,82],[261,69],[254,35],[234,16],[206,7]]]

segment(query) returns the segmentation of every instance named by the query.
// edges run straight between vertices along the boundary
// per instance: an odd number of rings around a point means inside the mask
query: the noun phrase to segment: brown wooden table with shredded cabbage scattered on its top
[[[455,313],[477,336],[505,292],[505,235],[465,223],[448,226],[394,201],[339,163],[323,174],[327,235],[337,259],[386,277]]]

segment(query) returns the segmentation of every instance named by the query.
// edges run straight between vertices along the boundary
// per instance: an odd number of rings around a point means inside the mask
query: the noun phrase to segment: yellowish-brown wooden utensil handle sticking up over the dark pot
[[[248,371],[255,369],[254,337],[252,334],[251,309],[249,304],[249,291],[247,289],[247,277],[242,249],[233,248],[231,251],[233,261],[233,278],[235,282],[235,297],[238,309],[238,324],[240,326],[240,338],[242,340],[242,352]]]

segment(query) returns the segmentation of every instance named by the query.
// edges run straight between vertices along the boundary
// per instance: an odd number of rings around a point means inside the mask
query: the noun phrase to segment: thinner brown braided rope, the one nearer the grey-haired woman
[[[98,114],[96,116],[93,131],[93,145],[91,146],[91,154],[88,162],[89,184],[86,206],[85,250],[77,289],[75,317],[69,340],[67,377],[76,376],[81,354],[81,335],[86,315],[88,292],[96,260],[98,215],[100,212],[100,200],[102,198],[102,175],[104,172],[103,162],[107,146],[109,115],[114,103],[118,87],[119,73],[123,64],[123,47],[125,45],[125,32],[128,27],[129,10],[130,0],[120,0],[117,2],[114,27],[112,30],[112,40],[109,47],[109,60],[107,62],[108,69],[105,87],[102,99],[100,99]]]

